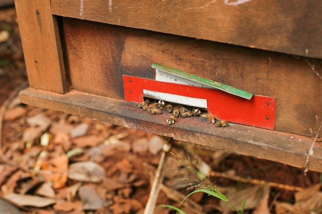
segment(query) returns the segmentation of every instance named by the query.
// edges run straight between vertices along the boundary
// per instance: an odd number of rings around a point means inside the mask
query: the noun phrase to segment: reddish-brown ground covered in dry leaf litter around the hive
[[[1,105],[26,81],[14,8],[0,9],[4,30],[9,37],[0,44]],[[26,106],[19,99],[6,111],[2,139],[9,162],[0,163],[0,214],[143,213],[164,141],[145,131]],[[303,176],[301,169],[283,164],[183,145],[192,152],[176,152],[210,167],[211,180],[232,204],[246,200],[245,213],[321,212],[320,173]],[[157,204],[178,205],[188,194],[182,186],[197,179],[175,172],[177,164],[174,157],[168,160]],[[183,204],[187,213],[232,211],[203,193],[189,199]]]

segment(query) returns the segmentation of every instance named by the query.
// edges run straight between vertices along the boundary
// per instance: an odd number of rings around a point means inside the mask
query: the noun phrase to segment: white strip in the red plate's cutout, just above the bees
[[[143,94],[148,98],[153,98],[156,100],[162,100],[162,101],[177,103],[177,104],[186,105],[186,106],[193,106],[196,108],[205,108],[205,109],[208,108],[206,99],[189,98],[189,96],[163,93],[163,92],[151,91],[147,89],[143,89]]]

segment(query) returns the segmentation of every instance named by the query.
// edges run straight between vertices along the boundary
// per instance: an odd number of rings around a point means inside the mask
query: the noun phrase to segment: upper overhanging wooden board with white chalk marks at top
[[[52,13],[322,59],[322,2],[52,0]]]

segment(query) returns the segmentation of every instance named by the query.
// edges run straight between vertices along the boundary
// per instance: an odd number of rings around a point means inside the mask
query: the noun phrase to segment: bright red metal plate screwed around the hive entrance
[[[126,101],[142,102],[143,89],[207,100],[208,112],[222,120],[267,129],[275,128],[276,99],[254,95],[251,100],[221,90],[166,83],[123,75]],[[191,104],[193,106],[193,104]]]

